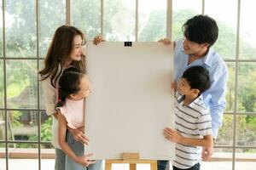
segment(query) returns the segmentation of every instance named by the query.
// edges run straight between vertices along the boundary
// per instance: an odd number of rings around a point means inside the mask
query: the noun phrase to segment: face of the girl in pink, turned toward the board
[[[80,90],[77,94],[71,94],[73,99],[84,99],[87,98],[91,93],[91,84],[86,75],[81,78],[79,88]]]

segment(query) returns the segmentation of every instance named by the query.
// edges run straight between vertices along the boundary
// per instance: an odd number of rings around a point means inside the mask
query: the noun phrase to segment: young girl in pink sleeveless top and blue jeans
[[[101,169],[100,162],[88,161],[84,155],[84,144],[73,139],[67,127],[79,129],[84,127],[84,99],[90,94],[91,86],[88,77],[71,67],[63,72],[59,81],[59,102],[57,104],[59,120],[59,144],[67,154],[66,170]],[[84,167],[85,166],[85,167]]]

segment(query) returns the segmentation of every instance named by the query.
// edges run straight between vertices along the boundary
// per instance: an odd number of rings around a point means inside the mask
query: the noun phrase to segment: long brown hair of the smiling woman
[[[44,69],[39,71],[41,80],[45,80],[46,78],[50,77],[50,83],[53,87],[55,87],[57,80],[61,77],[64,60],[73,51],[73,39],[78,35],[82,38],[84,43],[85,38],[83,32],[74,26],[60,26],[55,31],[55,35],[49,45],[48,52],[44,59]],[[73,61],[71,65],[77,68],[80,72],[84,73],[85,55],[81,54],[81,60]],[[59,66],[61,68],[59,68]]]

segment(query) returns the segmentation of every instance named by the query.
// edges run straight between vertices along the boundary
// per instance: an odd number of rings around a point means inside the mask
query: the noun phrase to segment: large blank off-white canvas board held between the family
[[[160,42],[87,44],[86,70],[92,93],[85,104],[85,152],[93,159],[172,160],[174,144],[163,135],[173,127],[173,45]]]

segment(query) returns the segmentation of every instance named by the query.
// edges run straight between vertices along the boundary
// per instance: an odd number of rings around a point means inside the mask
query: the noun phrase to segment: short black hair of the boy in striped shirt
[[[192,66],[183,72],[183,78],[189,82],[190,88],[196,88],[200,94],[210,88],[209,71],[202,66]]]

